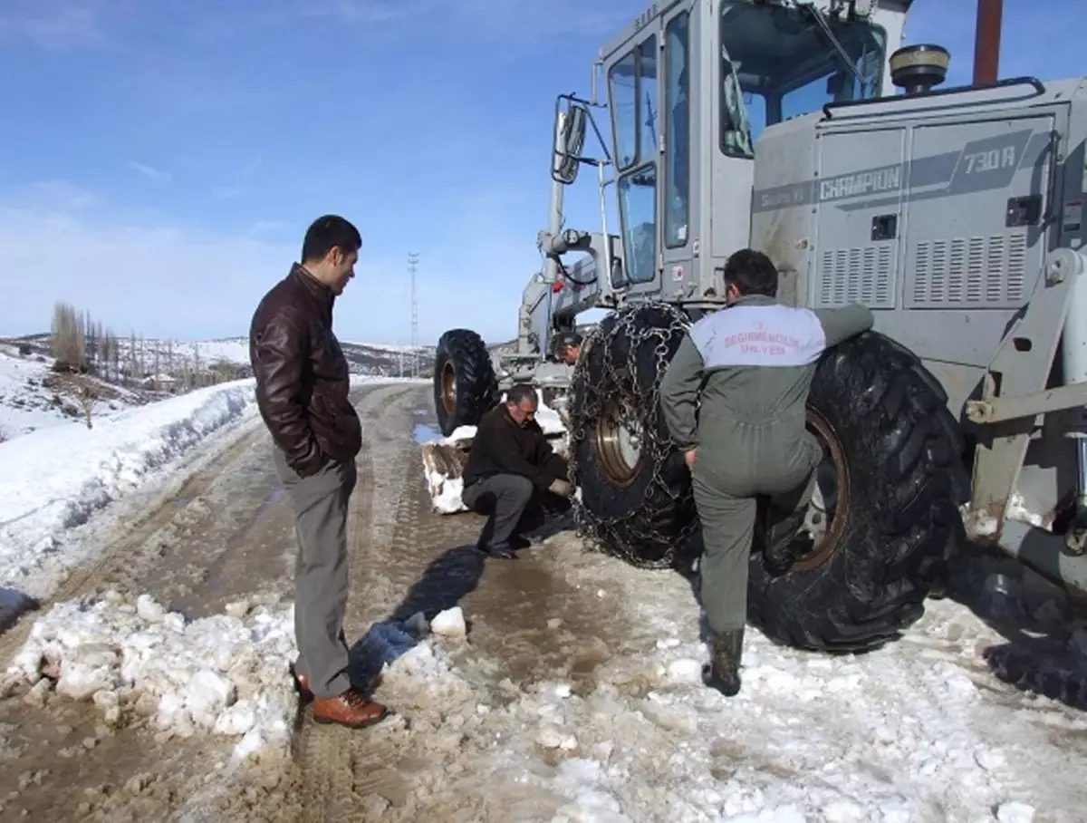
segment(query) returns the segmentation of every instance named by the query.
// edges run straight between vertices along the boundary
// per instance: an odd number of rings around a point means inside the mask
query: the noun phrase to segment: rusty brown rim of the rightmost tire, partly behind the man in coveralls
[[[823,449],[823,460],[815,469],[815,488],[804,515],[803,529],[811,535],[813,544],[792,564],[796,571],[802,572],[817,569],[834,557],[841,544],[849,512],[849,465],[841,439],[830,422],[813,409],[808,410],[808,427]]]

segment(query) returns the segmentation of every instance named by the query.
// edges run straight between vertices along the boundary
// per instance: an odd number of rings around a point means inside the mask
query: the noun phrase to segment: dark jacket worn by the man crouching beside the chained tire
[[[565,479],[567,471],[566,461],[551,449],[539,423],[534,420],[518,426],[505,403],[499,403],[476,427],[464,466],[464,485],[496,474],[520,474],[546,489],[552,481]]]

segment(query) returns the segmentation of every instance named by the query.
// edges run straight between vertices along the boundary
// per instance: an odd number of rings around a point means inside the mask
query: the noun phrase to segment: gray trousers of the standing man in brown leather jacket
[[[273,447],[276,473],[295,509],[295,670],[310,681],[318,698],[336,697],[351,687],[347,611],[347,510],[358,472],[354,462],[329,462],[311,477],[287,465]]]

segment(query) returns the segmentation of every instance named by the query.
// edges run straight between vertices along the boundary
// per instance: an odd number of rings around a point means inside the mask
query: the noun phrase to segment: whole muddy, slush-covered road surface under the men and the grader
[[[454,606],[467,621],[384,671],[375,695],[396,718],[349,731],[296,702],[290,746],[236,766],[236,737],[111,728],[89,700],[18,688],[0,700],[0,819],[1083,820],[1087,715],[995,677],[986,650],[1007,638],[969,609],[930,602],[863,658],[752,631],[744,690],[725,700],[699,682],[686,581],[586,552],[561,520],[516,560],[486,560],[480,518],[430,511],[430,404],[421,384],[358,396],[348,637]],[[193,620],[239,599],[289,604],[292,518],[270,448],[259,425],[242,432],[55,599],[149,593]],[[5,665],[29,622],[0,638]],[[1087,623],[1074,634],[1087,648]],[[375,648],[355,649],[360,677]],[[288,662],[274,661],[284,683]]]

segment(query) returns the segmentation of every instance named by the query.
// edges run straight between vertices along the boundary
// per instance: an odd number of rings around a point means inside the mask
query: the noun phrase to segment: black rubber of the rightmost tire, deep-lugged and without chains
[[[823,565],[779,577],[757,537],[748,618],[794,648],[869,651],[897,639],[942,588],[963,533],[962,440],[935,378],[874,332],[823,356],[809,406],[838,434],[849,467],[846,531]]]

